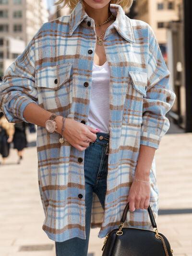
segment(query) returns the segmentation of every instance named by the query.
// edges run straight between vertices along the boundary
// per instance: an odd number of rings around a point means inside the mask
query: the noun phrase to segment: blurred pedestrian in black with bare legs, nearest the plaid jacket
[[[26,122],[15,123],[15,133],[13,135],[13,148],[17,149],[18,161],[20,164],[23,159],[24,147],[27,147],[27,138],[26,138]]]

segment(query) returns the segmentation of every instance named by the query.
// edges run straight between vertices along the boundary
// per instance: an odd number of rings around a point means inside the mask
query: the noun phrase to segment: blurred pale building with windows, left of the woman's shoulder
[[[0,0],[0,76],[46,21],[46,0]],[[20,49],[12,52],[14,38]]]

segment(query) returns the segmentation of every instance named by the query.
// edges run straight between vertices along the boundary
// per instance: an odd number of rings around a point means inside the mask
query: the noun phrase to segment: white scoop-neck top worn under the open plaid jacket
[[[109,84],[108,61],[102,66],[93,63],[90,109],[88,125],[98,128],[101,133],[109,133]]]

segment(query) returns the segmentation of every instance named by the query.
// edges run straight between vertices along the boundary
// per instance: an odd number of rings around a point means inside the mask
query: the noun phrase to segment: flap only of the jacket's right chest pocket
[[[134,89],[146,97],[147,73],[142,71],[130,71],[129,74],[132,79]]]

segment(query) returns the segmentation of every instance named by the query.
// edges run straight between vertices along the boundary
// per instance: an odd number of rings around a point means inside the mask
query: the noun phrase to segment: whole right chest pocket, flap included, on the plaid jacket
[[[147,73],[130,71],[122,123],[142,123],[143,102],[147,90]]]

